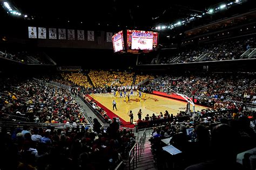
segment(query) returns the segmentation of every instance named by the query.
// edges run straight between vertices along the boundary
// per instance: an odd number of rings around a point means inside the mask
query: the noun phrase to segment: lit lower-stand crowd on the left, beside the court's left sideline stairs
[[[1,91],[2,118],[36,123],[87,123],[83,109],[69,90],[37,80],[25,80]]]

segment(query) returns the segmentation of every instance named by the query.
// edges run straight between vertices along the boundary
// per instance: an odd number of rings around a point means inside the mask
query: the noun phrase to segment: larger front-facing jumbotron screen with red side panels
[[[157,41],[157,32],[127,30],[127,49],[156,50]]]

